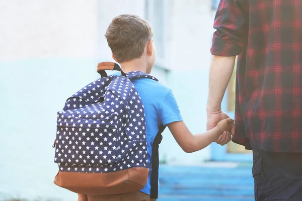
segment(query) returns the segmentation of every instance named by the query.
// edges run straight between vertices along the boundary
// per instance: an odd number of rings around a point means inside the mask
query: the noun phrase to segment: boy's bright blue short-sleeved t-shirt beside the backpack
[[[148,78],[133,79],[132,83],[141,97],[144,106],[147,138],[147,155],[151,160],[152,146],[159,131],[160,125],[182,121],[182,117],[172,93],[172,90],[162,84]],[[150,167],[150,172],[152,171]],[[140,191],[150,194],[150,172],[148,181]],[[160,173],[159,173],[160,174]]]

